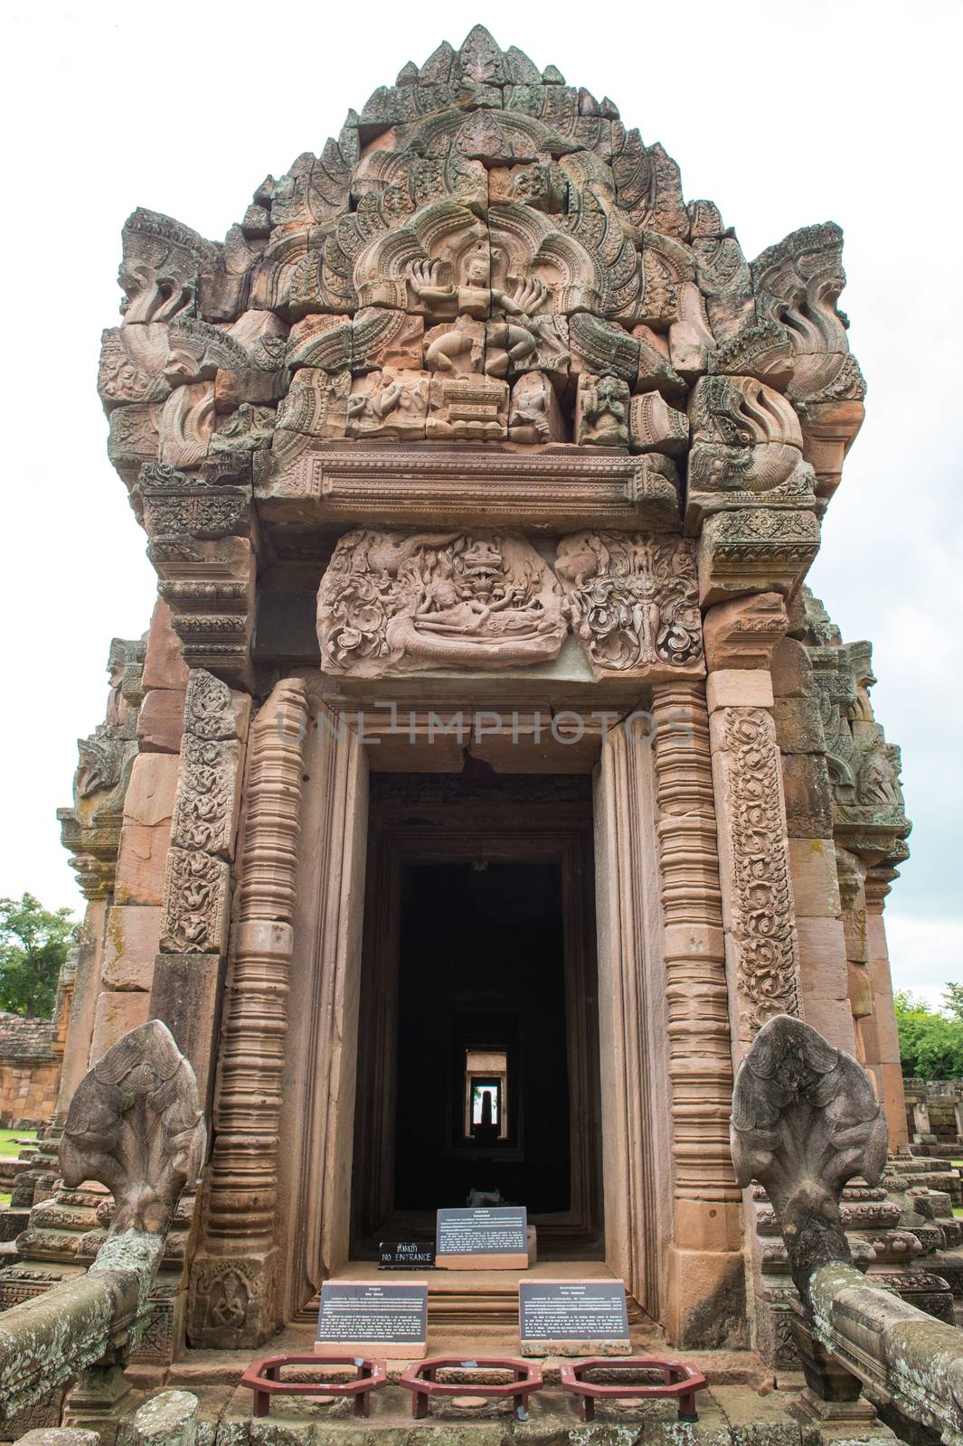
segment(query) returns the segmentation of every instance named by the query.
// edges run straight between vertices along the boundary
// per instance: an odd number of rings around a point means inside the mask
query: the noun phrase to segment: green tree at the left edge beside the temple
[[[0,1009],[49,1019],[77,928],[68,908],[51,914],[32,894],[0,899]]]

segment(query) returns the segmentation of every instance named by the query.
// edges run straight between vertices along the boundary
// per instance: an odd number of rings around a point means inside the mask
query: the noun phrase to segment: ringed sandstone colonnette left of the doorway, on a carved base
[[[259,1345],[275,1325],[278,1121],[307,711],[304,684],[286,680],[252,729],[215,1144],[191,1272],[197,1345]]]

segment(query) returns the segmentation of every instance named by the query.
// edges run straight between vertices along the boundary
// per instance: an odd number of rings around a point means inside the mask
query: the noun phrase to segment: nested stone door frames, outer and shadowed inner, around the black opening
[[[538,1268],[604,1270],[662,1319],[672,1134],[654,750],[622,726],[562,746],[544,706],[522,696],[525,720],[544,717],[541,742],[529,732],[516,745],[505,729],[477,742],[464,704],[468,749],[451,735],[432,742],[424,710],[399,706],[399,729],[385,704],[335,709],[322,680],[309,680],[309,697],[318,724],[305,745],[278,1155],[283,1319],[311,1313],[322,1280],[376,1270],[377,1239],[402,1235],[401,1222],[392,1229],[402,870],[479,859],[561,878],[570,1202],[535,1220]],[[552,707],[571,717],[580,703],[562,693]],[[458,711],[457,698],[444,711]],[[448,1274],[458,1278],[435,1287],[451,1319],[471,1317],[479,1293],[515,1319],[515,1280],[438,1272]]]

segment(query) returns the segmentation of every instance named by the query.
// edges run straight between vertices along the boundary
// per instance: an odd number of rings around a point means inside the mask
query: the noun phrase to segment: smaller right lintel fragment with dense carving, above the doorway
[[[565,610],[596,677],[661,680],[703,672],[691,542],[672,536],[575,532],[555,562]]]

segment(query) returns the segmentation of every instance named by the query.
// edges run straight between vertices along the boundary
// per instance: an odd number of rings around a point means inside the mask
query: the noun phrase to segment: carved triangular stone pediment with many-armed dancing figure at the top
[[[804,441],[827,493],[856,421],[818,409],[856,396],[840,246],[831,223],[805,227],[749,266],[607,97],[476,26],[268,176],[223,244],[130,217],[124,327],[101,366],[111,453],[129,479],[152,460],[201,470],[249,434],[276,473],[305,437],[680,457],[685,428],[633,403],[658,392],[682,411],[696,388],[693,415],[749,440],[698,422],[690,525],[761,495],[813,510]]]

